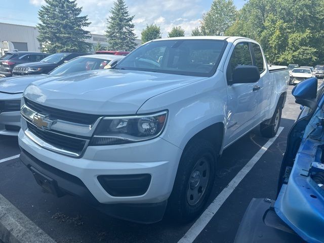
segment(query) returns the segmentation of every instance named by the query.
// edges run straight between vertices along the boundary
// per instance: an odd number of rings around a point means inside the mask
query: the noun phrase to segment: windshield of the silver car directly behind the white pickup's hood
[[[111,60],[92,58],[92,57],[77,57],[51,71],[50,75],[61,75],[71,72],[88,71],[95,69],[103,69]]]

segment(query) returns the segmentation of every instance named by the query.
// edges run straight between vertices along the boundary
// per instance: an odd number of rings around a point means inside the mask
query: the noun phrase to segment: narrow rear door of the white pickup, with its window
[[[265,112],[268,110],[270,105],[270,92],[271,92],[271,79],[270,73],[267,72],[266,61],[264,55],[262,54],[261,47],[256,43],[250,43],[253,65],[257,66],[260,71],[260,100],[257,107],[257,119],[261,123],[265,117]]]

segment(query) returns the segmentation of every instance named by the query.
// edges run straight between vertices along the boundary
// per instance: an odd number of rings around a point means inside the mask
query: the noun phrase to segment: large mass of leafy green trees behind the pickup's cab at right
[[[250,0],[225,34],[255,39],[269,63],[322,63],[324,0]]]

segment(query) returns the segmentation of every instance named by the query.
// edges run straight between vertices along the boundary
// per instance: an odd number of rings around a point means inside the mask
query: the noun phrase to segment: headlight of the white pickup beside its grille
[[[103,117],[90,146],[133,143],[158,137],[167,122],[167,111],[148,115]]]

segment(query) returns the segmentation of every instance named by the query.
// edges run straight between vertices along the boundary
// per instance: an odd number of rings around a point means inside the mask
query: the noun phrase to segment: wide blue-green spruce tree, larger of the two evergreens
[[[57,52],[87,52],[91,44],[85,39],[90,38],[90,32],[84,30],[90,22],[88,16],[79,16],[82,8],[78,8],[76,0],[45,0],[38,11],[40,23],[37,24],[39,43],[44,45],[42,51]]]

